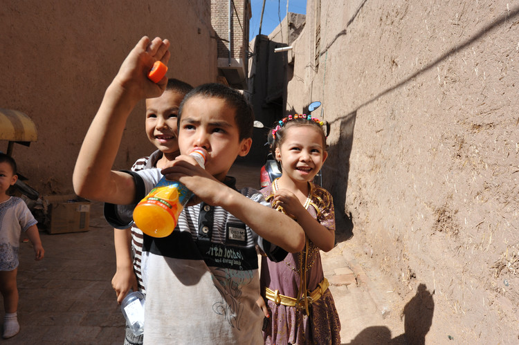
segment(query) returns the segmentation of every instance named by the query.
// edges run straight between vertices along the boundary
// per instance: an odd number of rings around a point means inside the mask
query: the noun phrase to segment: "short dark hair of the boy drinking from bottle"
[[[254,113],[251,104],[247,102],[242,93],[239,93],[234,88],[230,88],[224,84],[202,84],[196,88],[193,88],[187,95],[185,95],[180,104],[179,124],[182,118],[182,109],[185,102],[188,102],[188,100],[194,96],[200,96],[204,98],[215,97],[224,100],[228,106],[235,109],[235,121],[238,126],[239,140],[252,138]]]

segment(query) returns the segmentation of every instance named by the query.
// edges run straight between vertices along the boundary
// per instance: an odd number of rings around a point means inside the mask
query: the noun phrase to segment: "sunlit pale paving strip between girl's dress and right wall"
[[[338,231],[340,231],[338,229]],[[340,235],[338,236],[340,238]],[[399,317],[401,301],[390,281],[363,264],[367,257],[356,249],[354,239],[339,241],[330,252],[321,252],[322,268],[339,313],[343,344],[406,344]],[[359,263],[358,259],[363,260]],[[371,277],[371,274],[375,278]]]

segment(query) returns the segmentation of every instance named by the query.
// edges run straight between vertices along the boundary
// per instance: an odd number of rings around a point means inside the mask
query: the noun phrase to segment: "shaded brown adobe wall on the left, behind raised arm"
[[[2,1],[1,7],[0,108],[22,111],[36,124],[37,142],[15,144],[13,156],[41,194],[72,192],[84,134],[140,37],[172,41],[168,76],[193,85],[216,81],[207,1]],[[141,102],[129,118],[116,169],[154,150],[144,109]]]

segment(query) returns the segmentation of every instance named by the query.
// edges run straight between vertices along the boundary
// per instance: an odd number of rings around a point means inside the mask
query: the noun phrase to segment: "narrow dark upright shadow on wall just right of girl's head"
[[[328,148],[328,164],[322,167],[322,185],[334,196],[336,218],[336,241],[346,241],[353,236],[352,213],[347,211],[349,156],[352,153],[353,132],[357,112],[340,118],[339,136],[336,144]],[[333,162],[333,163],[331,163]]]

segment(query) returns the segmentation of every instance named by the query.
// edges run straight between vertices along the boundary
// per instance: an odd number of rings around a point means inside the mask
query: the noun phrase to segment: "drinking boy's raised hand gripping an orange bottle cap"
[[[147,75],[156,61],[167,65],[170,59],[170,41],[155,37],[143,37],[126,57],[119,68],[113,83],[129,92],[137,100],[160,96],[165,90],[167,77],[157,83],[148,79]]]

